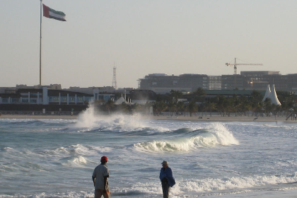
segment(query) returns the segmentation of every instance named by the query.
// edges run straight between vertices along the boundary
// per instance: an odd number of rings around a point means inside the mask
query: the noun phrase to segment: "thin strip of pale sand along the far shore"
[[[101,115],[107,117],[107,115]],[[0,115],[0,119],[77,119],[78,115]],[[286,117],[255,117],[252,116],[226,116],[208,115],[208,116],[168,116],[168,115],[141,115],[140,119],[146,120],[177,120],[177,121],[192,121],[192,122],[296,122],[296,120],[286,120]]]

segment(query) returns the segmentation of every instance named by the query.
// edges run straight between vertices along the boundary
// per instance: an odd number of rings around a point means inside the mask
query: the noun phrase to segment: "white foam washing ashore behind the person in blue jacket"
[[[250,177],[223,177],[223,178],[206,178],[206,179],[181,179],[175,178],[176,185],[170,189],[172,197],[182,197],[182,194],[232,194],[253,192],[252,187],[270,187],[271,185],[286,184],[296,182],[297,177],[288,177],[286,175],[255,175]],[[291,190],[296,187],[281,187],[279,190]],[[127,196],[129,194],[139,194],[139,197],[158,197],[162,194],[161,184],[157,181],[135,182],[131,187],[125,187],[124,190],[115,187],[113,189],[117,196]],[[192,196],[189,196],[192,197]],[[195,197],[195,196],[193,196]],[[199,196],[197,196],[199,197]]]

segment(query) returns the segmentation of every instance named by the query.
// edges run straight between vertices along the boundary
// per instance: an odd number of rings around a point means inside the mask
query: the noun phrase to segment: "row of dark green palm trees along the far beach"
[[[142,112],[148,113],[148,109],[153,107],[154,115],[160,115],[163,112],[169,112],[171,115],[185,115],[185,113],[192,116],[197,112],[208,112],[209,115],[217,113],[222,116],[230,116],[231,113],[235,115],[247,115],[250,112],[252,115],[269,115],[269,114],[287,114],[289,112],[296,112],[297,95],[288,91],[276,92],[281,105],[272,104],[272,100],[267,98],[262,101],[264,95],[257,91],[252,91],[250,95],[232,95],[225,97],[223,95],[216,95],[213,98],[206,98],[206,92],[202,88],[197,88],[196,91],[190,94],[183,94],[180,91],[170,91],[169,94],[156,95],[153,103],[129,105],[122,103],[122,105],[115,105],[112,100],[109,100],[101,108],[110,111],[120,112]],[[183,99],[183,100],[181,100]]]

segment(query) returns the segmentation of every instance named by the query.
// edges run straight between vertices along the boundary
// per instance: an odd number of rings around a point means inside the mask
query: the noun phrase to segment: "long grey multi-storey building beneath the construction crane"
[[[240,74],[222,76],[148,74],[138,81],[139,89],[162,94],[170,93],[171,90],[193,92],[197,88],[265,91],[269,84],[274,84],[278,91],[297,92],[297,74],[281,75],[279,71],[241,71]]]

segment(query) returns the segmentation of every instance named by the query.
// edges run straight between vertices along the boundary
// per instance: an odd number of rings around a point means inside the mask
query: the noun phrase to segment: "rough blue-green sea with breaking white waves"
[[[0,119],[0,197],[93,197],[107,156],[111,197],[297,197],[297,122],[191,122],[97,115]]]

